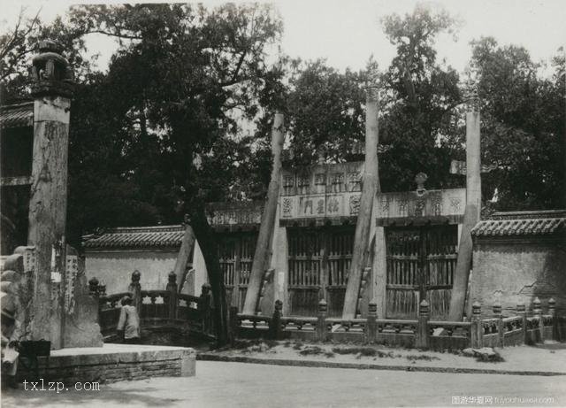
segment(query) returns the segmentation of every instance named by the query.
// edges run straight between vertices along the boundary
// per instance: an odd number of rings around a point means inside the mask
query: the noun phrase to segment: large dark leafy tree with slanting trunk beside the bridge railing
[[[265,49],[279,36],[279,18],[270,6],[257,4],[212,10],[136,4],[80,6],[70,20],[81,32],[120,41],[99,84],[103,92],[121,96],[111,114],[118,120],[112,143],[120,149],[103,154],[118,155],[121,168],[113,170],[120,171],[117,187],[135,186],[134,196],[147,204],[139,211],[177,222],[182,213],[189,214],[207,265],[218,341],[223,343],[226,299],[204,204],[228,196],[234,175],[241,174],[237,167],[249,161],[251,141],[238,137],[233,112],[246,118],[257,113],[255,102],[272,81]]]

